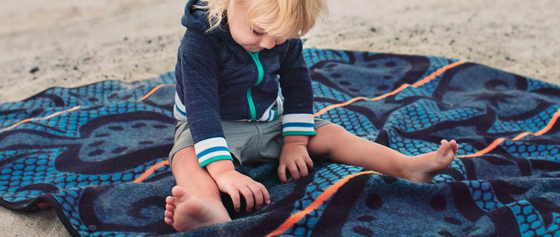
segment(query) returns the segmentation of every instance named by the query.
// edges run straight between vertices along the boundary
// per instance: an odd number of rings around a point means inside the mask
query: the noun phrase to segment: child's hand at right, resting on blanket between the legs
[[[286,169],[294,180],[303,178],[309,174],[307,168],[313,169],[313,161],[307,153],[307,147],[302,143],[284,143],[280,153],[280,165],[278,166],[278,178],[282,183],[287,183]]]

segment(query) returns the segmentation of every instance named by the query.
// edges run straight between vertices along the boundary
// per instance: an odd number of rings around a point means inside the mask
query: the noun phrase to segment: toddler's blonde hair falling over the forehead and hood
[[[239,1],[247,9],[251,29],[262,29],[278,38],[300,38],[311,30],[318,17],[326,14],[326,0],[200,0],[208,9],[211,31],[220,27],[230,4]]]

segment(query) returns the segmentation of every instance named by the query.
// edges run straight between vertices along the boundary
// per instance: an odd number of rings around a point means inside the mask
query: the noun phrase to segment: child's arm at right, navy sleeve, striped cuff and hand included
[[[278,177],[283,183],[287,182],[286,169],[290,171],[292,178],[297,180],[307,176],[308,168],[313,168],[313,162],[307,152],[307,141],[309,136],[315,135],[313,91],[302,42],[301,39],[295,39],[288,44],[288,52],[279,71],[284,96],[284,146],[279,160]]]

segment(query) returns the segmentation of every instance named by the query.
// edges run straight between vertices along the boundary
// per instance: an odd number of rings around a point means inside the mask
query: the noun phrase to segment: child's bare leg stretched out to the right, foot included
[[[455,141],[444,140],[437,151],[407,156],[354,136],[337,124],[322,126],[316,133],[307,145],[313,155],[418,183],[430,182],[437,171],[447,168],[459,148]]]

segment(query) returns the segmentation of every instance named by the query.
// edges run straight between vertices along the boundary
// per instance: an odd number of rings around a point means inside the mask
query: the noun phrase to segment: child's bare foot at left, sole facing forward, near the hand
[[[177,231],[231,221],[226,208],[218,200],[203,201],[181,186],[173,187],[171,193],[174,197],[165,199],[165,223]]]

